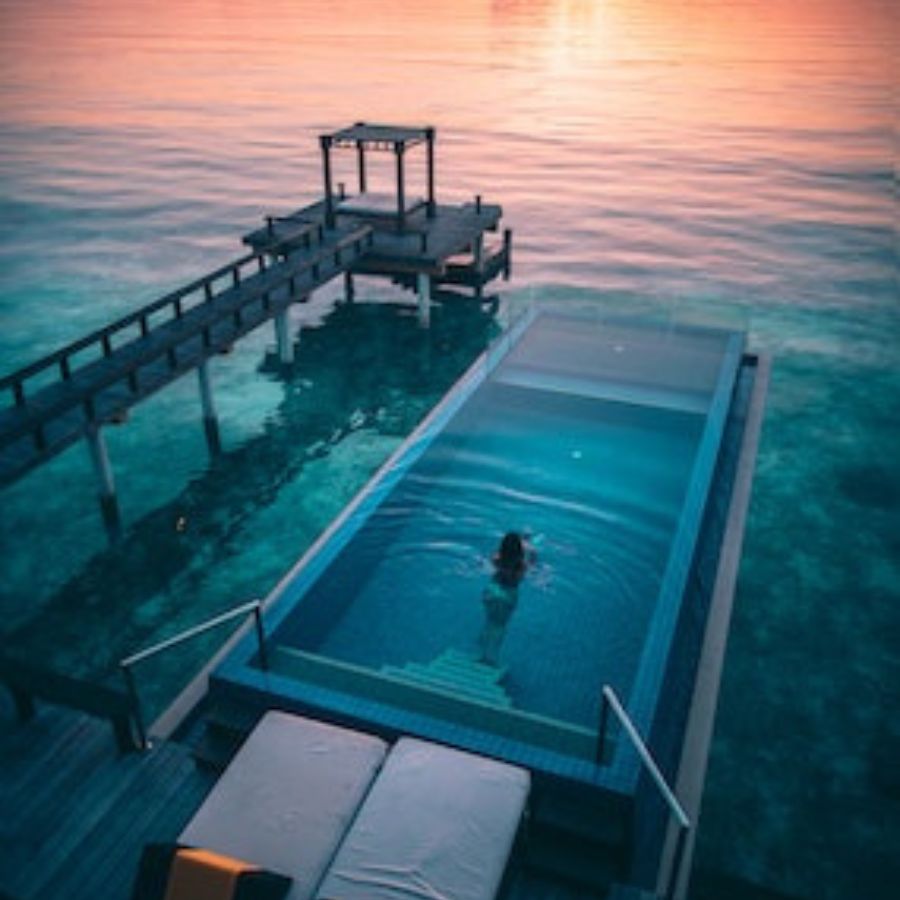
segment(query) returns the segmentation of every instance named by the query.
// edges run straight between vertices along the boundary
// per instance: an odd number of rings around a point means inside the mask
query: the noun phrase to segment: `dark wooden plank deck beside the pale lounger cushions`
[[[128,900],[141,849],[174,841],[212,789],[187,745],[120,755],[106,723],[43,706],[25,725],[0,696],[0,897]],[[598,900],[527,863],[504,900]]]

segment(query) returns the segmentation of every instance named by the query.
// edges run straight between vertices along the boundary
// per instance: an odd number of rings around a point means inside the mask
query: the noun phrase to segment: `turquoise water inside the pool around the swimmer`
[[[573,357],[591,332],[594,352],[579,367]],[[661,361],[644,352],[636,361],[629,337],[613,340],[624,372],[600,379],[591,370],[609,329],[539,318],[303,593],[277,639],[376,670],[429,663],[447,648],[477,657],[490,557],[506,531],[528,533],[538,561],[507,628],[504,687],[517,708],[594,727],[599,686],[623,696],[633,687],[710,395],[708,383],[680,395],[659,385]],[[669,368],[701,368],[688,340],[668,344],[678,348]],[[623,379],[629,365],[645,386]],[[566,381],[560,368],[572,373]],[[650,403],[657,385],[663,406]]]

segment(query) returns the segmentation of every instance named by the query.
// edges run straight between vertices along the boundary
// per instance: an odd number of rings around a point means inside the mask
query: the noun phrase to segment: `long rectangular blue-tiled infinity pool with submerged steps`
[[[741,350],[724,331],[530,317],[276,589],[270,671],[247,644],[223,677],[593,760],[604,684],[652,714]],[[537,559],[490,667],[481,598],[509,530]]]

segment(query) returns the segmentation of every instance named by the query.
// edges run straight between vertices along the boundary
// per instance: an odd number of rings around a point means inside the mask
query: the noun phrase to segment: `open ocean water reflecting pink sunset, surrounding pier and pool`
[[[774,355],[694,893],[893,897],[896,47],[892,0],[0,0],[0,369],[315,199],[319,133],[436,126],[439,199],[514,228],[501,316],[739,324]],[[84,447],[0,492],[5,649],[109,676],[265,594],[496,329],[335,297],[295,310],[291,373],[266,330],[216,360],[215,465],[191,379],[110,429],[118,547]]]

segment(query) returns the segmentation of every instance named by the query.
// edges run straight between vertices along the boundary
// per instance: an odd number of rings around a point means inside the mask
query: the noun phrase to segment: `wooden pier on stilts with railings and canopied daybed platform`
[[[287,311],[317,288],[343,276],[353,299],[354,276],[387,277],[418,293],[427,326],[433,285],[464,285],[481,295],[484,284],[509,275],[510,232],[486,250],[499,206],[480,197],[441,205],[434,193],[434,129],[358,123],[320,138],[324,197],[287,215],[269,216],[244,237],[249,254],[167,294],[128,316],[0,379],[0,487],[10,484],[85,438],[98,482],[104,522],[119,531],[113,470],[103,426],[188,372],[196,371],[210,453],[220,449],[208,360],[244,335],[273,321],[279,357],[293,361]],[[424,144],[427,196],[406,191],[406,153]],[[331,153],[356,150],[359,194],[332,187]],[[368,191],[367,153],[388,150],[396,159],[394,194]],[[2,402],[2,401],[0,401]]]

